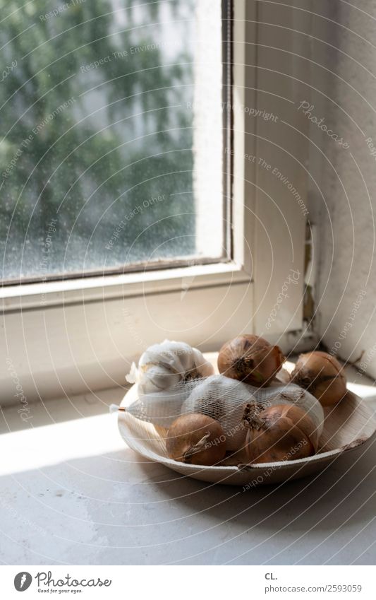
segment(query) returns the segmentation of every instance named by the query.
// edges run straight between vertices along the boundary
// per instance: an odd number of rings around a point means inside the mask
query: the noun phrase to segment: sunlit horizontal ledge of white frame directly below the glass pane
[[[2,310],[25,310],[46,306],[130,298],[202,286],[250,283],[251,277],[235,262],[184,266],[176,269],[138,271],[119,275],[27,283],[1,288]]]

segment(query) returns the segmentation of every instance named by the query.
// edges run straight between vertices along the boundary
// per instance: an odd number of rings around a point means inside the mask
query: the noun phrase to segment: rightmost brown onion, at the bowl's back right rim
[[[291,382],[305,388],[322,406],[337,404],[346,394],[346,377],[338,360],[326,352],[301,354]]]

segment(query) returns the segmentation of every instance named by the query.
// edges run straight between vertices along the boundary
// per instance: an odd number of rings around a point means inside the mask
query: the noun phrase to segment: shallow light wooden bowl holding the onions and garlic
[[[121,407],[138,397],[137,386],[131,387]],[[348,452],[363,452],[375,435],[375,421],[366,404],[352,392],[334,407],[325,408],[325,426],[320,438],[320,451],[313,457],[252,465],[197,466],[174,461],[167,456],[164,442],[167,430],[135,418],[119,410],[118,425],[126,444],[143,457],[157,461],[182,475],[245,489],[281,483],[311,475],[325,469],[334,459]],[[356,459],[356,456],[354,456]],[[236,457],[230,461],[236,462]]]

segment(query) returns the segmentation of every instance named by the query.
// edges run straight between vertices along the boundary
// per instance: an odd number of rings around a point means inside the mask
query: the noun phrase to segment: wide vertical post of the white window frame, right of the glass
[[[293,28],[309,33],[310,16],[277,4],[246,2],[243,167],[245,204],[254,220],[248,241],[257,259],[254,331],[281,343],[291,331],[298,331],[300,340],[303,319],[306,217],[294,194],[307,196],[309,127],[296,102],[309,73],[296,57],[308,54],[310,42]],[[289,350],[295,344],[291,337]]]

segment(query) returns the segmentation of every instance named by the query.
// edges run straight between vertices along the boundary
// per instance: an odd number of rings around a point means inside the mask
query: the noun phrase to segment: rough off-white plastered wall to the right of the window
[[[341,358],[356,360],[365,351],[363,367],[376,377],[376,160],[366,143],[371,138],[376,146],[376,3],[309,4],[310,59],[316,63],[309,66],[311,112],[349,146],[310,122],[310,220],[318,228],[315,327]]]

